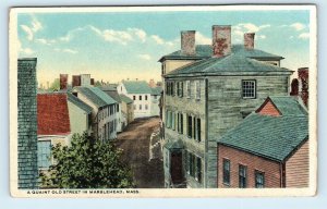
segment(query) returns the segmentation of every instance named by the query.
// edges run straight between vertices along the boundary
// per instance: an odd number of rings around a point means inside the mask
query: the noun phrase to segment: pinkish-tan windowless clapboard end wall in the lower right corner
[[[308,186],[308,142],[306,140],[286,162],[287,187]]]

